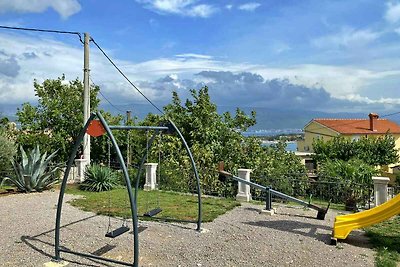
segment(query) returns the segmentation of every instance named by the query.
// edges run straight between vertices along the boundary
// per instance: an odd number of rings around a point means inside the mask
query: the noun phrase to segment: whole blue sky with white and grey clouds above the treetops
[[[0,25],[89,32],[156,104],[208,85],[218,105],[400,110],[400,1],[0,0]],[[116,106],[144,103],[91,44]],[[82,77],[79,38],[0,29],[0,106]]]

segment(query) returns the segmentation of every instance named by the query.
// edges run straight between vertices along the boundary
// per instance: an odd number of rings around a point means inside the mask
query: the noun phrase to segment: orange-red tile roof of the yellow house
[[[400,125],[388,119],[375,119],[375,131],[371,131],[369,119],[314,119],[313,121],[341,134],[400,133]]]

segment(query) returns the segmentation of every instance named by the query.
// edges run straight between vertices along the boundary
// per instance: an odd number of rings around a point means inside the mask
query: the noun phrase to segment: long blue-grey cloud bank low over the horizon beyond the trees
[[[153,92],[157,100],[163,98],[166,102],[170,101],[173,90],[185,99],[189,97],[190,89],[207,85],[212,101],[221,106],[338,111],[342,107],[354,109],[355,105],[351,101],[333,98],[324,88],[296,85],[286,79],[265,80],[261,75],[250,72],[202,71],[195,75],[195,79],[169,75],[138,84],[140,88]],[[361,106],[361,103],[358,105]]]

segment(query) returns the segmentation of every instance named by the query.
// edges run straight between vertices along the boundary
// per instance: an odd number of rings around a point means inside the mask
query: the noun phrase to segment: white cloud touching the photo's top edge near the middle
[[[160,14],[207,18],[218,11],[212,5],[197,4],[197,0],[136,0],[136,2]]]

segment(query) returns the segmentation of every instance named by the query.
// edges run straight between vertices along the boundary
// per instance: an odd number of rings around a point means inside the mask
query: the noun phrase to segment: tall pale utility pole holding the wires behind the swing
[[[89,85],[89,33],[84,33],[83,48],[83,125],[90,116],[90,85]],[[90,164],[90,136],[85,134],[83,138],[83,158],[86,164]]]

